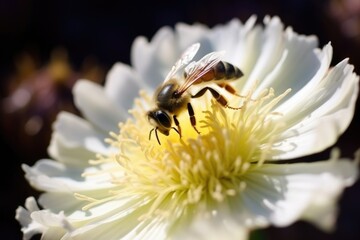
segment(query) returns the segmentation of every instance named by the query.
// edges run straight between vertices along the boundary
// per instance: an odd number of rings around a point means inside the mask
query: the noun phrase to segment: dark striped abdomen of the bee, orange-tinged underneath
[[[210,71],[209,74],[211,72],[215,80],[235,80],[244,75],[238,67],[224,61],[216,64],[213,71]]]

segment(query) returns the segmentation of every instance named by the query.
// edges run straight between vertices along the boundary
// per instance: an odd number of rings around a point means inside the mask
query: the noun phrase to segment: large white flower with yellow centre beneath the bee
[[[242,108],[224,108],[211,95],[193,99],[201,134],[185,111],[181,140],[175,131],[159,133],[159,145],[148,139],[151,95],[195,42],[196,57],[225,50],[223,60],[244,72],[233,87],[245,97],[224,93]],[[353,66],[343,60],[330,67],[331,45],[317,45],[314,36],[284,30],[277,17],[264,26],[255,18],[213,29],[178,24],[151,42],[137,38],[132,67],[117,63],[104,87],[76,84],[85,119],[58,116],[49,147],[55,161],[23,166],[44,191],[44,210],[33,198],[17,210],[24,238],[245,239],[249,230],[299,219],[333,229],[337,199],[358,177],[357,161],[340,159],[337,150],[329,160],[282,161],[330,147],[354,114]]]

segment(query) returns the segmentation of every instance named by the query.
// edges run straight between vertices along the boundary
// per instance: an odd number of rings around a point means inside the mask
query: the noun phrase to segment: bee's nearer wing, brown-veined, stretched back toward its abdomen
[[[183,94],[191,85],[196,84],[204,74],[209,72],[212,67],[221,61],[221,57],[224,55],[224,51],[212,52],[204,56],[198,62],[191,62],[186,68],[185,72],[187,77],[184,83],[179,87],[178,93]]]

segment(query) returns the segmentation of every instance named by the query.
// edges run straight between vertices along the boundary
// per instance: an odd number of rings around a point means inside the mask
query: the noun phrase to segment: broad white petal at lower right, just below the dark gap
[[[247,219],[247,223],[256,226],[263,221],[288,226],[303,218],[329,230],[334,227],[339,195],[357,178],[354,161],[265,164],[246,175],[242,201],[246,211],[253,215],[253,220]],[[318,213],[327,219],[317,216]]]

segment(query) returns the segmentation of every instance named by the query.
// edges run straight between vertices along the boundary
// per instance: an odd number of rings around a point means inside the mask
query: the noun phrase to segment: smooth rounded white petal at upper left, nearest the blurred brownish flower
[[[118,123],[126,118],[127,113],[116,108],[100,85],[79,80],[73,93],[75,104],[86,119],[103,131],[118,131]]]

